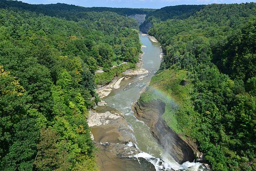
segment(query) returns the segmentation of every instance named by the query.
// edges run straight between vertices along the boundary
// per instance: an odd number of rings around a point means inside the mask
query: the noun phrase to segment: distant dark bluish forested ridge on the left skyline
[[[108,7],[81,7],[76,5],[68,5],[64,3],[56,4],[28,4],[15,0],[0,0],[0,8],[18,7],[19,9],[29,10],[44,15],[65,18],[66,20],[78,21],[85,12],[104,12],[110,11],[120,15],[132,14],[148,14],[155,9],[138,9],[138,8],[108,8]]]

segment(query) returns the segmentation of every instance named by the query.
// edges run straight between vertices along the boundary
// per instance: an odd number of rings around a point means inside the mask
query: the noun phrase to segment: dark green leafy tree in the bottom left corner
[[[36,143],[39,138],[39,125],[36,120],[23,117],[15,124],[13,143],[8,153],[2,158],[0,165],[3,171],[32,171],[33,161],[36,157]]]

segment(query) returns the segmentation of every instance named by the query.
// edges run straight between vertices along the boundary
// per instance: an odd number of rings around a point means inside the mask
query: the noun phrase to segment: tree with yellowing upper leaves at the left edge
[[[13,144],[15,124],[20,118],[26,115],[28,101],[25,89],[20,85],[19,80],[10,76],[0,66],[0,156],[4,157]]]

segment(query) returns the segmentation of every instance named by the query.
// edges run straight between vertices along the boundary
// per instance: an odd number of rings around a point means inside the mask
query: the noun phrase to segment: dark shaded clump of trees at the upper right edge
[[[241,30],[234,31],[224,44],[215,50],[213,62],[232,79],[246,82],[256,75],[256,20],[251,19]],[[217,55],[219,54],[219,55]]]

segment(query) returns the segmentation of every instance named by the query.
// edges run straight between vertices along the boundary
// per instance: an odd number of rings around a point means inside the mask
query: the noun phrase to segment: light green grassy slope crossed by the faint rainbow
[[[187,71],[175,69],[174,67],[166,69],[160,74],[156,74],[151,79],[150,87],[141,94],[138,102],[149,102],[151,100],[162,100],[165,106],[165,112],[162,117],[166,120],[167,125],[176,133],[184,133],[177,122],[177,110],[182,108],[192,109],[189,92],[193,91],[192,83],[185,86],[181,84],[185,80]],[[186,80],[191,82],[192,80]]]

